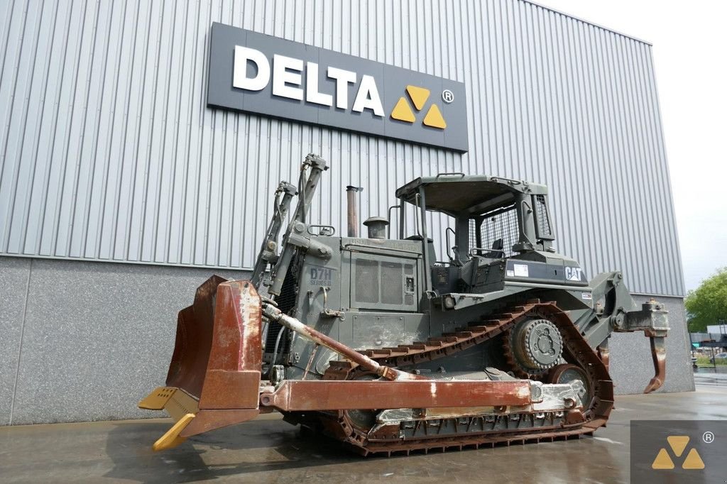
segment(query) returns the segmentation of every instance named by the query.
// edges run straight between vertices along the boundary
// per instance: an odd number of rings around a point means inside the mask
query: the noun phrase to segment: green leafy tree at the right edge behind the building
[[[727,323],[727,267],[689,291],[684,306],[691,332],[707,331],[708,324]]]

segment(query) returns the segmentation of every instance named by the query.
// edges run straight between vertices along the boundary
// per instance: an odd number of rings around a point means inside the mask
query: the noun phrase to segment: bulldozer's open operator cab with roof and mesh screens
[[[425,265],[431,267],[432,281],[427,286],[439,294],[495,289],[507,273],[515,274],[510,270],[514,262],[507,262],[510,259],[545,263],[545,254],[555,252],[545,185],[484,175],[438,174],[403,185],[396,197],[403,202],[399,238],[405,235],[408,203],[415,208],[417,233],[409,239],[422,241]],[[447,262],[433,257],[427,211],[452,219],[454,229],[447,228],[445,234]]]

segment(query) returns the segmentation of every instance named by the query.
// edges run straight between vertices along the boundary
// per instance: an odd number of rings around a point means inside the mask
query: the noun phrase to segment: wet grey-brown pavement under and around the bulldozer
[[[595,437],[409,457],[361,458],[277,416],[153,453],[169,419],[0,427],[0,481],[625,483],[632,419],[727,419],[727,374],[699,374],[696,392],[617,397]],[[717,379],[718,384],[702,379]]]

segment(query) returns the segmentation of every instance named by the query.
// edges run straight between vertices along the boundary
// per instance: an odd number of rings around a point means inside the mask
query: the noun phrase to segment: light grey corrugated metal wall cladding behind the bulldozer
[[[470,152],[206,108],[213,21],[465,82]],[[560,251],[683,294],[641,41],[518,0],[7,0],[0,29],[0,254],[250,267],[315,152],[320,222],[345,227],[345,185],[365,218],[422,174],[545,182]]]

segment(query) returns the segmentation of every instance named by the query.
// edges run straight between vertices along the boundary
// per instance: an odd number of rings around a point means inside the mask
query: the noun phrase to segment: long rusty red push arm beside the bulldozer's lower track
[[[275,392],[260,395],[263,406],[273,406],[282,411],[520,406],[531,401],[530,382],[486,380],[286,380]]]

